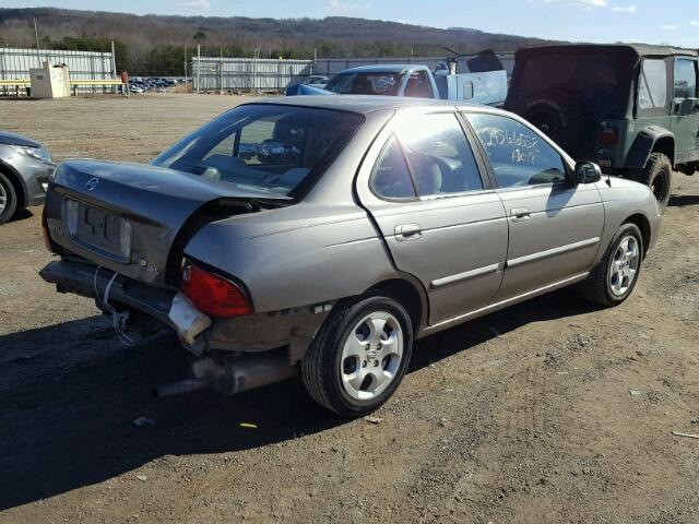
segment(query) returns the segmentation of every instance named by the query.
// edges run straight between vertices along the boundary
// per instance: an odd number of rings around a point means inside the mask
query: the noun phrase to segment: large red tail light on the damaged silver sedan
[[[252,314],[252,307],[236,284],[186,261],[180,289],[202,313],[233,318]]]

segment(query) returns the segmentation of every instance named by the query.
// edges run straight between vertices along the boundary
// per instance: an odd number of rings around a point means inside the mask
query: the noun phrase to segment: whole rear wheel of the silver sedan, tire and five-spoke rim
[[[343,301],[301,361],[304,385],[321,406],[360,417],[398,389],[412,349],[411,318],[393,298],[370,294]]]

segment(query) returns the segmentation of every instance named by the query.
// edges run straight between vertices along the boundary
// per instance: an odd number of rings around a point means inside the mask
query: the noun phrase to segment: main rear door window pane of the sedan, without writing
[[[420,117],[396,135],[419,196],[483,189],[473,151],[455,115]]]

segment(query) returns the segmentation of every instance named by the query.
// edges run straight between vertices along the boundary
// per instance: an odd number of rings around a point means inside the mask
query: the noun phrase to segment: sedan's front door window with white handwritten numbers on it
[[[466,118],[488,155],[500,188],[566,180],[564,159],[537,132],[500,115],[470,114]]]

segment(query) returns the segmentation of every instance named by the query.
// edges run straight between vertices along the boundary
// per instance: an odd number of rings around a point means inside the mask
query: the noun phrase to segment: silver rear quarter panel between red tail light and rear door
[[[204,226],[185,254],[242,283],[256,312],[334,301],[395,276],[366,212],[298,204]]]

